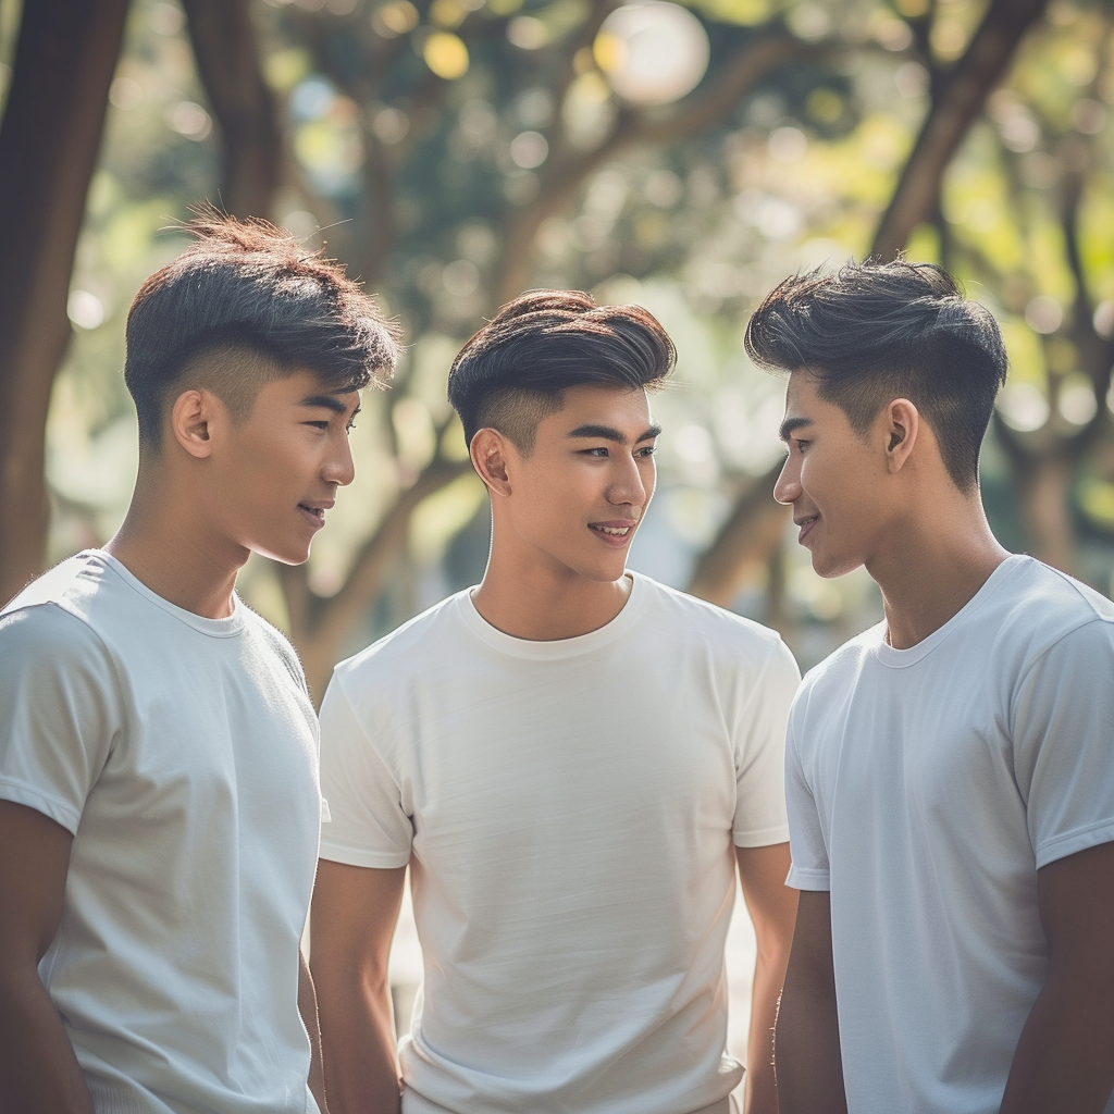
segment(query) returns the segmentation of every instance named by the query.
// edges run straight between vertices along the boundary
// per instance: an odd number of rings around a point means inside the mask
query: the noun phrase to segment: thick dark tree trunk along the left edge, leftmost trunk
[[[46,422],[128,0],[27,0],[0,124],[0,600],[42,570]]]

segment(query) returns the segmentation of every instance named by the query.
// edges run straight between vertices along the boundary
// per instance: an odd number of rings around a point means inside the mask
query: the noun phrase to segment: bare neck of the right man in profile
[[[908,649],[938,631],[1009,556],[990,531],[975,492],[942,500],[935,514],[906,516],[898,541],[867,563],[886,608],[887,641]]]

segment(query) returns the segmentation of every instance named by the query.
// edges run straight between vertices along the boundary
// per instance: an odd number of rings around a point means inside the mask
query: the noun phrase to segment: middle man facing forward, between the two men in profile
[[[759,940],[743,1096],[794,912],[782,788],[799,674],[778,635],[625,570],[654,491],[633,305],[535,291],[449,375],[491,498],[483,582],[336,667],[311,961],[333,1114],[727,1114],[724,941]],[[395,1058],[410,867],[424,983]]]

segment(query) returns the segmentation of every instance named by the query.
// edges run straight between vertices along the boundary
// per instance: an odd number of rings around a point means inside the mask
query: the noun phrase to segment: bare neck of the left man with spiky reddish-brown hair
[[[214,537],[208,516],[189,495],[173,477],[152,477],[140,468],[124,524],[105,550],[172,604],[206,618],[227,618],[248,550]]]

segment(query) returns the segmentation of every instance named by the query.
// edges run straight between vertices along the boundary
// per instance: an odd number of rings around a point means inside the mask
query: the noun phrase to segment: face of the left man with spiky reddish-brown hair
[[[286,565],[304,561],[336,489],[352,482],[348,436],[359,409],[356,391],[333,392],[312,371],[265,384],[214,446],[221,531]]]

